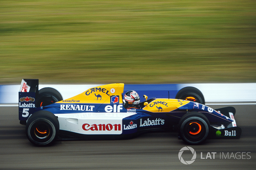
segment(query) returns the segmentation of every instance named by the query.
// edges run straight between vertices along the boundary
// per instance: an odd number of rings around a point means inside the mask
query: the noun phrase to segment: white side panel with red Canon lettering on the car
[[[72,113],[58,116],[60,130],[87,134],[122,134],[122,120],[136,113]]]

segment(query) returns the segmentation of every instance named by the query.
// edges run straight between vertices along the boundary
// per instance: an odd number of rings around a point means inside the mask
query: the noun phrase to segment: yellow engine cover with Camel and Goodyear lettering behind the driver
[[[110,96],[118,95],[121,97],[123,92],[123,83],[100,85],[57,103],[110,103]],[[121,99],[119,103],[122,104]]]

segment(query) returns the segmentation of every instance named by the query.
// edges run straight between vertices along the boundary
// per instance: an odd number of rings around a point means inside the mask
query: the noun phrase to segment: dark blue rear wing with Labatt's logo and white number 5
[[[38,79],[22,79],[19,90],[19,120],[24,124],[35,112],[38,95]]]

